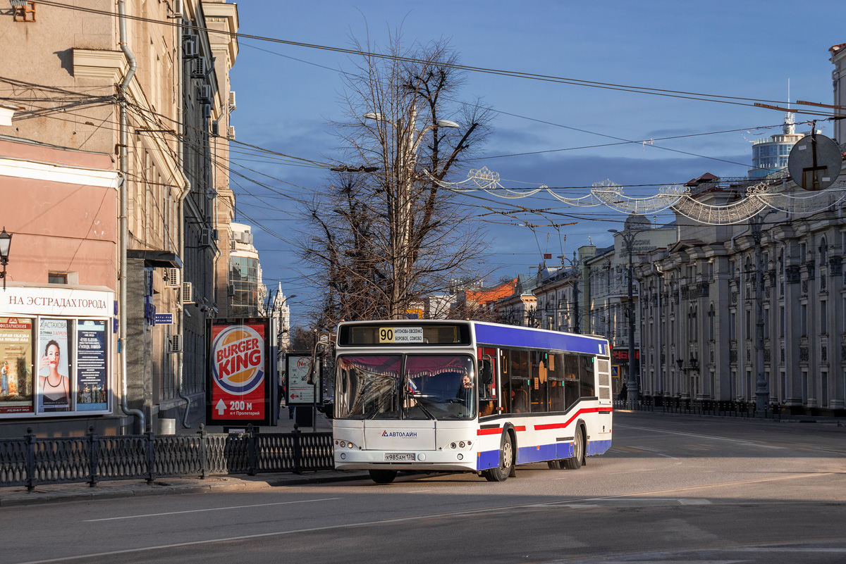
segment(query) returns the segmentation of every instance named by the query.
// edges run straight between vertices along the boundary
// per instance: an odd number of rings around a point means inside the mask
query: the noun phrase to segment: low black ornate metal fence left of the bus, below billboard
[[[208,433],[157,437],[100,436],[38,438],[31,429],[19,439],[0,439],[0,487],[196,475],[331,470],[332,433]]]

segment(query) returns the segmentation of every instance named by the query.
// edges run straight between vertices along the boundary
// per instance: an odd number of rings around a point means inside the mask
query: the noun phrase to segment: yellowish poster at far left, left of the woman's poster
[[[0,415],[33,412],[32,326],[29,317],[0,317]]]

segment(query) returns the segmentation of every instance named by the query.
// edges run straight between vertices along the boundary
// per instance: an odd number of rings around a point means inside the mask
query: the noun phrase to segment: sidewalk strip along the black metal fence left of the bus
[[[283,411],[284,419],[279,420],[278,426],[261,426],[260,433],[289,433],[294,431],[294,420],[288,419],[288,410]],[[321,414],[317,415],[317,432],[332,431],[332,421]],[[304,434],[312,431],[311,426],[300,429]],[[222,433],[222,426],[207,426],[210,433]],[[199,426],[182,429],[179,434],[190,434],[200,431]],[[257,491],[280,485],[322,484],[325,482],[346,480],[368,480],[370,475],[366,470],[323,470],[319,472],[276,472],[258,474],[255,476],[223,475],[209,476],[201,479],[199,476],[179,476],[173,478],[158,478],[152,485],[146,480],[102,480],[95,487],[85,482],[74,484],[45,484],[37,485],[35,491],[26,491],[25,485],[14,487],[0,487],[0,507],[21,505],[35,505],[38,503],[54,502],[90,502],[97,499],[113,499],[118,497],[158,496],[187,493],[203,493],[211,491]]]

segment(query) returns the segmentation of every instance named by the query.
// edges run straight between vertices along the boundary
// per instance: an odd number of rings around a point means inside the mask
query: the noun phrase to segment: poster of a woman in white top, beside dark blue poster
[[[38,412],[70,411],[67,319],[41,319],[38,331]]]

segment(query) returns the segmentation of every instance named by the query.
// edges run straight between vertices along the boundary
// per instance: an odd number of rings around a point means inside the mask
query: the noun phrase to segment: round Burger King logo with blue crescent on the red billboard
[[[264,379],[264,339],[253,328],[223,329],[211,345],[211,359],[211,379],[228,393],[250,393]]]

